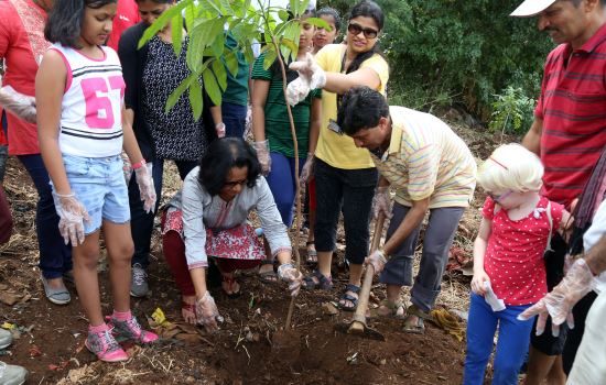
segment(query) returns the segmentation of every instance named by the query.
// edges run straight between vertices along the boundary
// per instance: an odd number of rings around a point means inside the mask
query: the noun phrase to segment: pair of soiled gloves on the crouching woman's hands
[[[278,277],[289,285],[291,296],[295,297],[301,290],[303,274],[297,271],[291,263],[284,263],[278,267]],[[223,321],[219,315],[215,299],[210,293],[206,292],[202,298],[196,299],[197,321],[203,324],[208,332],[215,332],[219,329],[217,322]]]

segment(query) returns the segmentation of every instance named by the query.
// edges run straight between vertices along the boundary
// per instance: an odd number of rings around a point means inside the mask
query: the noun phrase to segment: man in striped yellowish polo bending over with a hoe
[[[430,211],[421,267],[404,319],[404,331],[423,332],[423,319],[440,293],[458,221],[474,195],[474,157],[446,123],[429,113],[389,107],[381,94],[368,87],[355,87],[344,96],[337,124],[356,146],[370,152],[381,174],[375,212],[391,217],[387,241],[379,251],[382,262],[378,270],[385,264],[380,280],[387,284],[383,315],[403,316],[400,288],[412,285],[414,250]],[[391,212],[389,186],[396,191]],[[386,263],[388,255],[392,257]]]

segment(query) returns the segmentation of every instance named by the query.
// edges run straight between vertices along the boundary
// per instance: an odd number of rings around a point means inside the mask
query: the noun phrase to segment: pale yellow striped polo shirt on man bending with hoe
[[[430,197],[430,209],[467,207],[476,186],[476,162],[451,128],[432,114],[390,107],[391,141],[377,169],[396,189],[396,201]]]

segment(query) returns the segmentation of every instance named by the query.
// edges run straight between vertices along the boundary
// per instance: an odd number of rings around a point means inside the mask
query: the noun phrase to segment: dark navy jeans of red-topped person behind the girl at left
[[[47,278],[58,278],[72,270],[72,245],[65,244],[58,232],[58,216],[55,211],[51,179],[40,154],[19,155],[37,190],[35,230],[40,249],[39,267]]]

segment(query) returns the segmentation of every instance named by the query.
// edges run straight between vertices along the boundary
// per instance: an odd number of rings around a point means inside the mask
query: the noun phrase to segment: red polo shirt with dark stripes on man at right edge
[[[606,24],[581,48],[549,54],[534,116],[543,120],[542,194],[570,207],[606,146]]]

